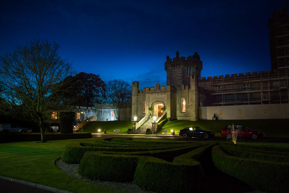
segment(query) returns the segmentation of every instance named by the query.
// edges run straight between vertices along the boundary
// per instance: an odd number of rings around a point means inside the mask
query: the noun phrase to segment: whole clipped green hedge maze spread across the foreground
[[[78,173],[89,179],[134,182],[156,192],[198,192],[206,179],[200,163],[205,155],[253,188],[287,192],[289,148],[106,138],[67,145],[62,160],[79,163]]]

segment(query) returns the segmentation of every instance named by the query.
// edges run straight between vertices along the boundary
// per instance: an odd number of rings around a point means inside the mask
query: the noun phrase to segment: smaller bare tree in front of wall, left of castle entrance
[[[112,103],[113,112],[117,119],[120,118],[121,109],[125,103],[131,102],[131,87],[124,80],[113,80],[107,83],[106,99],[108,103]]]

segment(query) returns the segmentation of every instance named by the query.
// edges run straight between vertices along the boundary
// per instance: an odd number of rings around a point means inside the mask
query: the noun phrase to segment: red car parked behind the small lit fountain
[[[237,134],[237,137],[250,137],[251,139],[265,137],[263,131],[252,130],[241,125],[234,125],[234,129],[228,126],[222,130],[222,136],[225,136],[227,139],[231,139],[232,134]]]

